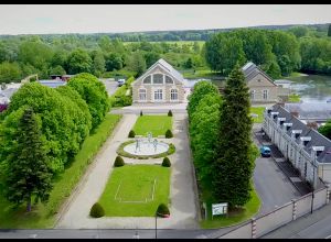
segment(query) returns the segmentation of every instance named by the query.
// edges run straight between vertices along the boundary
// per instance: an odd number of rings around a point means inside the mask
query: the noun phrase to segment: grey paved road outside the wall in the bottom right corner
[[[263,239],[331,239],[331,204],[308,213]]]

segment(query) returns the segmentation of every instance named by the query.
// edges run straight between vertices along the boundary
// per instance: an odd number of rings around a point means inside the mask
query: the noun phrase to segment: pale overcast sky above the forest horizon
[[[0,34],[331,23],[331,4],[1,4]]]

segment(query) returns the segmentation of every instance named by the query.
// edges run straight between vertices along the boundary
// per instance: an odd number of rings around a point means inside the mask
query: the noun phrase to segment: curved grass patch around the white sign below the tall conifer
[[[260,200],[255,191],[253,189],[250,191],[252,198],[245,205],[245,207],[241,210],[236,211],[229,211],[228,217],[225,216],[214,216],[212,220],[212,205],[207,204],[207,219],[202,220],[200,222],[200,226],[202,229],[216,229],[221,227],[227,227],[227,226],[234,226],[241,222],[244,222],[252,218],[254,215],[256,215],[260,207]]]

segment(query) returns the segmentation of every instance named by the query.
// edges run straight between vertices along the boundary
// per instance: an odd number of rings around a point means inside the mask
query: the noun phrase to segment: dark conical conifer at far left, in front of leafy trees
[[[52,189],[40,121],[32,109],[24,110],[17,134],[18,147],[6,165],[4,196],[17,205],[26,202],[31,211],[31,199],[45,202]]]

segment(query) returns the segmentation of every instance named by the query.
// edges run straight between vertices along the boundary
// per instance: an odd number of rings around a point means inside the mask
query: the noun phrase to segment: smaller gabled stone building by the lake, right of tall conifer
[[[258,66],[249,62],[242,70],[249,88],[252,103],[276,103],[280,100],[280,92],[284,95],[284,90]]]

